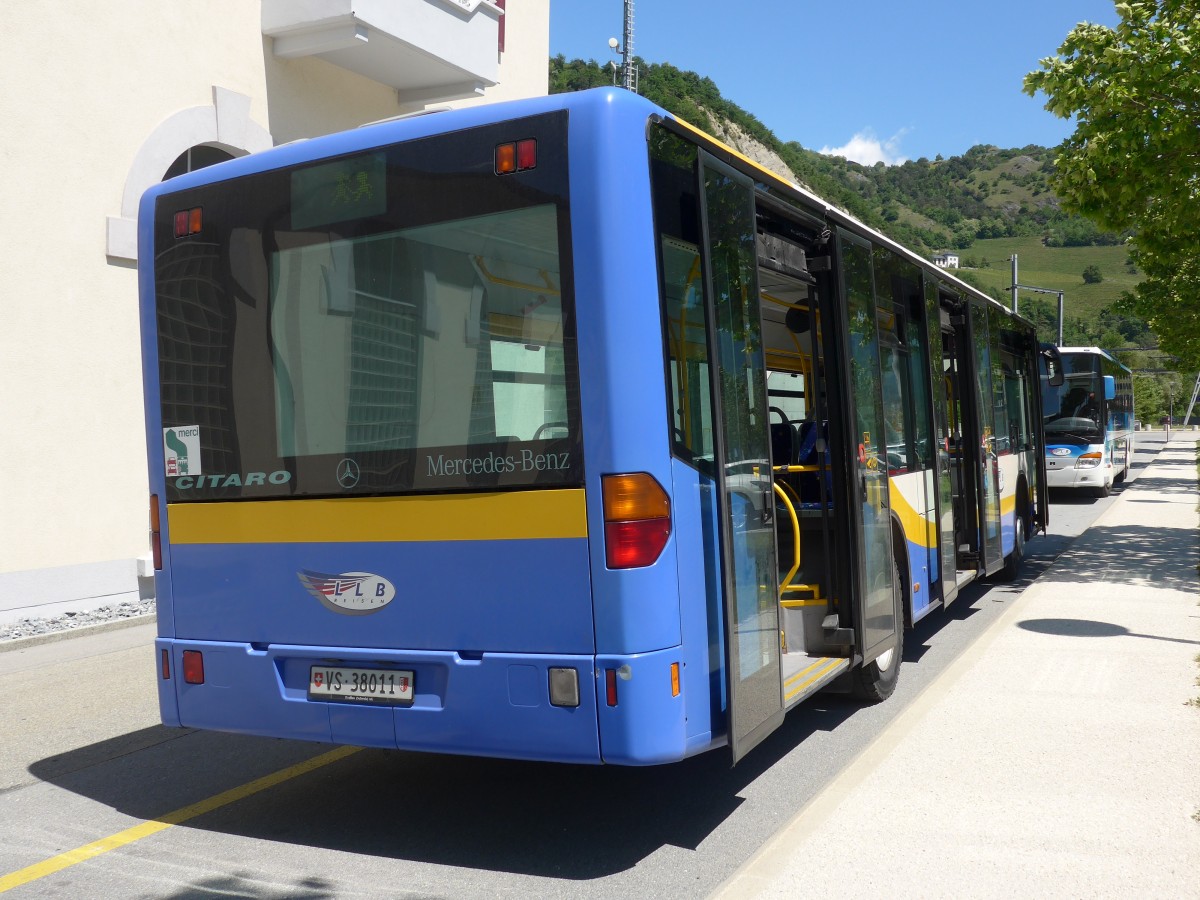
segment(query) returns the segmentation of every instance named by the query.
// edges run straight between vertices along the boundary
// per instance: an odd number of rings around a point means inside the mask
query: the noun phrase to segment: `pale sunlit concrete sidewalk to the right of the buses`
[[[1200,898],[1194,440],[715,896]]]

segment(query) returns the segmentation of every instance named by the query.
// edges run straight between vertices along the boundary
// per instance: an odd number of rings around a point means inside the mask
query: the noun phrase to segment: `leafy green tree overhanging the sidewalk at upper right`
[[[1075,116],[1050,175],[1063,205],[1111,232],[1135,229],[1146,275],[1133,308],[1163,349],[1200,368],[1200,11],[1127,0],[1116,29],[1082,23],[1025,77],[1046,109]]]

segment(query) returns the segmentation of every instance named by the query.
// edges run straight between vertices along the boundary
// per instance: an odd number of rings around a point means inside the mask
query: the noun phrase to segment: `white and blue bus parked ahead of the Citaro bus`
[[[1108,497],[1133,461],[1133,373],[1099,347],[1062,347],[1062,383],[1043,377],[1050,487]]]

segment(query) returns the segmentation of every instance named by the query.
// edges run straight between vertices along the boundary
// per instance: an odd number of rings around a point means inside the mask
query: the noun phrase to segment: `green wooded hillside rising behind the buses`
[[[751,113],[725,100],[712,79],[668,64],[638,60],[640,92],[746,156],[798,181],[917,253],[954,251],[968,268],[964,281],[1008,301],[1016,253],[1020,282],[1066,296],[1067,343],[1111,349],[1154,343],[1144,323],[1120,311],[1121,295],[1140,275],[1128,264],[1122,236],[1063,212],[1049,186],[1054,151],[1043,146],[973,146],[961,156],[860,166],[781,142]],[[607,66],[588,60],[550,61],[551,92],[612,84]],[[1094,266],[1100,280],[1085,282]],[[1057,332],[1057,301],[1028,292],[1021,310],[1043,340]]]

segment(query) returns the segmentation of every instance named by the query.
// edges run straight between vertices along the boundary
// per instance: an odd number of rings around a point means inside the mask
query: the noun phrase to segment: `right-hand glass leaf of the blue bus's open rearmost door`
[[[850,343],[850,390],[854,406],[852,469],[859,512],[859,596],[863,599],[863,661],[892,646],[899,623],[893,595],[892,516],[888,506],[888,460],[884,442],[880,337],[876,318],[871,248],[839,230],[846,290]]]

